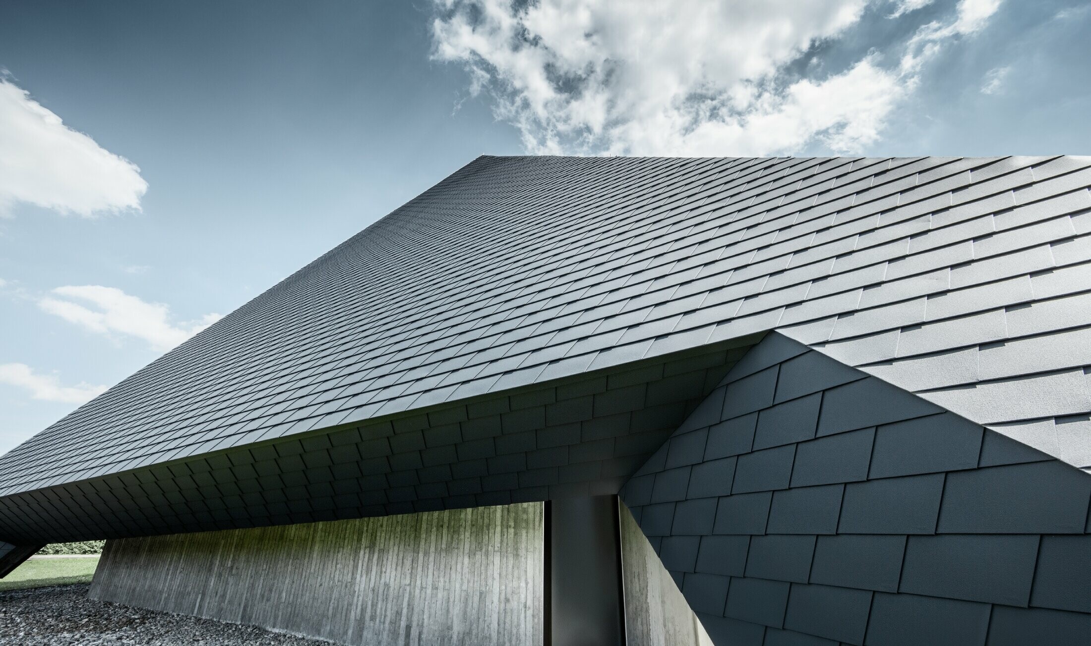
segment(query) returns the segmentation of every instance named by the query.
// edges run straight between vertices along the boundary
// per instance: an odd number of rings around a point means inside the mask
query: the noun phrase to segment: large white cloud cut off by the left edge
[[[0,77],[0,216],[17,203],[82,217],[140,209],[145,191],[135,164]]]

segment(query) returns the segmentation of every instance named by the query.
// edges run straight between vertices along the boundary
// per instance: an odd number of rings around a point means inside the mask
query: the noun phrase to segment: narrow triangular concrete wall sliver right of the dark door
[[[711,646],[633,514],[620,507],[626,645]]]

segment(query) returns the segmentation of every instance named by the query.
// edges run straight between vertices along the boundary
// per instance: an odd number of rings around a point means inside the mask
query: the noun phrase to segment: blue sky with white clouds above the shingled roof
[[[9,0],[0,453],[479,155],[1091,154],[1075,0]]]

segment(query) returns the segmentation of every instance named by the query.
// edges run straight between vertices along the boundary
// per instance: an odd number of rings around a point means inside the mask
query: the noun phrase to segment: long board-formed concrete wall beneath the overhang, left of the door
[[[109,540],[89,596],[343,644],[542,643],[542,503]]]

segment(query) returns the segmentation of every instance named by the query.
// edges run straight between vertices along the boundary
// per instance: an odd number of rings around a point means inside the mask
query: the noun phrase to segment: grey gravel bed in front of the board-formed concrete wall
[[[87,598],[87,585],[0,592],[0,644],[20,646],[328,646],[263,629]]]

